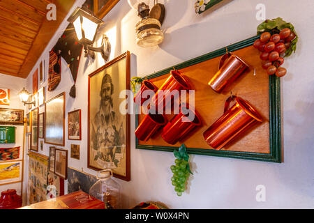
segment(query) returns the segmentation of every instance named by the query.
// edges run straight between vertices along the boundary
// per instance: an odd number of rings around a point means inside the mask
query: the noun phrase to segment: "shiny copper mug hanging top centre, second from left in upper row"
[[[181,90],[190,90],[190,84],[188,84],[188,81],[178,70],[171,70],[170,76],[151,99],[152,105],[154,105],[158,111],[165,109],[166,106],[172,106],[173,103],[170,104],[174,101],[172,92],[175,90],[177,90],[180,95]]]

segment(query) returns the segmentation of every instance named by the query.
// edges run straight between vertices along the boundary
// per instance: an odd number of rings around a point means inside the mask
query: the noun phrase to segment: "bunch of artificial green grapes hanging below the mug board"
[[[186,190],[186,182],[190,176],[190,168],[188,161],[184,159],[174,160],[175,165],[170,167],[173,176],[171,178],[172,185],[174,185],[174,191],[178,196],[182,195],[182,192]]]

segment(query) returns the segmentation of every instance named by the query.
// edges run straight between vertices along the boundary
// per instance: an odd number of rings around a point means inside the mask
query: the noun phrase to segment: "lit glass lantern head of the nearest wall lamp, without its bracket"
[[[103,24],[102,20],[79,7],[70,15],[68,22],[73,23],[77,39],[83,45],[94,43],[98,27]]]

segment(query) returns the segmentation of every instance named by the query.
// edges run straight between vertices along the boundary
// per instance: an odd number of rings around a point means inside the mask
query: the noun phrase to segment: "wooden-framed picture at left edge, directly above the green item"
[[[1,125],[24,125],[24,110],[0,108]]]

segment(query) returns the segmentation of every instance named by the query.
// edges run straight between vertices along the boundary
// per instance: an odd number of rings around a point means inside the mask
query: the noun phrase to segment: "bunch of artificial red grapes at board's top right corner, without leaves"
[[[264,32],[260,39],[256,40],[254,47],[260,52],[260,59],[262,59],[262,68],[267,70],[267,74],[277,77],[283,77],[287,73],[283,65],[283,56],[285,51],[290,47],[291,41],[296,37],[295,33],[290,29],[285,28],[279,34]]]

